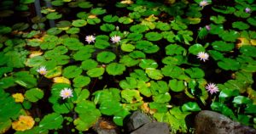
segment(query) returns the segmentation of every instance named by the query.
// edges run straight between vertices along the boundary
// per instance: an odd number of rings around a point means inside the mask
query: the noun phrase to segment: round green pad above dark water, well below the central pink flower
[[[122,75],[125,69],[125,64],[111,63],[108,64],[106,70],[109,75]]]

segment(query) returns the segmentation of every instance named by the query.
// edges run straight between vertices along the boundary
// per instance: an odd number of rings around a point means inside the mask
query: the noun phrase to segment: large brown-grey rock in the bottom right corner
[[[203,110],[195,116],[195,134],[256,134],[256,130],[223,114]]]

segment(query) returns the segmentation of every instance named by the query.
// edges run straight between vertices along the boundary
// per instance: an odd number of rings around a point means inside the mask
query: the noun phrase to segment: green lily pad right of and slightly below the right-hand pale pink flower
[[[224,70],[239,70],[241,65],[235,59],[222,59],[218,66]]]

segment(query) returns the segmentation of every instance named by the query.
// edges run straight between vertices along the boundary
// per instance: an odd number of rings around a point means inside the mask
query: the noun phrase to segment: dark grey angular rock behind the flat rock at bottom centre
[[[127,119],[125,126],[127,131],[133,131],[149,122],[151,122],[150,118],[137,110]]]

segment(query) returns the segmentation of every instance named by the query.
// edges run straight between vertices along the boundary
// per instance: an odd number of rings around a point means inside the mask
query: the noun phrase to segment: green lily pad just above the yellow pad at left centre
[[[81,75],[82,71],[83,70],[80,67],[76,65],[70,65],[63,70],[62,75],[66,78],[74,78]]]

